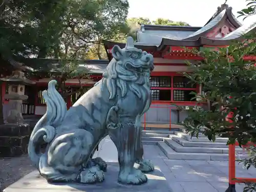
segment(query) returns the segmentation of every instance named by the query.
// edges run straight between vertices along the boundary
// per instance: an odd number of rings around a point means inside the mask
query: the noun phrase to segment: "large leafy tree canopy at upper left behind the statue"
[[[58,58],[63,88],[68,76],[86,75],[77,59],[93,45],[130,31],[128,8],[123,0],[2,0],[0,56]]]

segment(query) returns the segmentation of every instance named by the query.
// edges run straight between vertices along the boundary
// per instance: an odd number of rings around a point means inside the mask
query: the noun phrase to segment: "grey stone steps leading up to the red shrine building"
[[[215,142],[200,134],[199,138],[187,135],[182,130],[142,131],[143,144],[157,144],[169,159],[183,160],[228,160],[227,138],[216,138]],[[245,158],[246,152],[236,148],[238,157]]]

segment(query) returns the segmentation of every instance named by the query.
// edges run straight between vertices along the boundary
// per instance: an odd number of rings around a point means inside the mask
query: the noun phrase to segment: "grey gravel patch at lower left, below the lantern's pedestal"
[[[27,155],[0,159],[0,192],[33,170]]]

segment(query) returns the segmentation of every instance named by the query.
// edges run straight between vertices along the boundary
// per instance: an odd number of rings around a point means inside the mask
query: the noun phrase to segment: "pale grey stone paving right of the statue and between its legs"
[[[117,150],[110,138],[100,143],[99,151],[94,157],[100,156],[105,161],[117,162]],[[144,158],[153,161],[164,174],[174,192],[225,192],[228,187],[227,161],[169,160],[156,145],[144,145]],[[256,177],[256,169],[246,170],[237,163],[238,177]],[[244,186],[236,185],[237,192]]]

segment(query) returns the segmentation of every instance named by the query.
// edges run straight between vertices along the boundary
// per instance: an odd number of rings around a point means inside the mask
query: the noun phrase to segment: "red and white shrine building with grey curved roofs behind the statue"
[[[192,86],[189,84],[188,79],[181,72],[193,72],[189,71],[186,60],[197,63],[203,58],[190,53],[187,49],[196,48],[201,50],[206,47],[225,47],[230,45],[233,40],[243,40],[241,36],[255,30],[255,28],[256,22],[242,25],[233,15],[232,8],[226,4],[218,7],[217,12],[209,18],[203,27],[140,24],[140,29],[136,32],[135,47],[151,53],[154,56],[155,65],[151,74],[152,105],[142,121],[165,123],[171,127],[186,117],[186,112],[177,110],[175,105],[185,107],[196,104],[196,100],[191,100],[194,96],[189,93],[191,91],[199,93],[201,88],[199,85]],[[104,69],[112,59],[111,49],[113,46],[125,47],[125,44],[108,40],[104,40],[103,44],[108,54],[108,60],[80,61],[79,67],[88,69],[90,78],[81,79],[84,90],[68,98],[68,108],[81,94],[88,91],[95,82],[101,79]],[[187,49],[185,50],[182,47]],[[35,58],[24,59],[19,62],[24,63],[26,70],[32,70],[37,74],[35,78],[31,78],[35,84],[25,88],[25,93],[29,97],[23,103],[23,114],[44,115],[46,104],[42,99],[42,91],[47,89],[50,80],[47,74],[51,71],[56,73],[57,76],[59,73],[58,60]],[[8,100],[4,99],[4,95],[7,93],[6,90],[8,90],[7,84],[7,82],[2,84],[4,114],[8,110],[6,106]],[[79,89],[78,79],[68,79],[66,86],[72,90]]]

